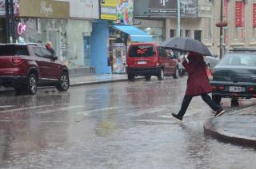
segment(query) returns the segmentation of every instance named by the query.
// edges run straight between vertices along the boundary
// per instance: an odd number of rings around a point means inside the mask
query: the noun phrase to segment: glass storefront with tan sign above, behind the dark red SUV
[[[74,1],[72,1],[74,2]],[[70,19],[70,2],[51,0],[20,3],[20,22],[25,30],[20,33],[20,43],[38,43],[44,45],[50,41],[59,60],[72,69],[90,68],[90,34],[92,24],[89,20]],[[72,13],[73,14],[73,13]],[[78,71],[78,70],[76,70]]]

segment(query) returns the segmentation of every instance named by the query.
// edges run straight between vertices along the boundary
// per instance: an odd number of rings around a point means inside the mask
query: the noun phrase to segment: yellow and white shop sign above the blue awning
[[[101,0],[101,19],[117,20],[117,0]]]

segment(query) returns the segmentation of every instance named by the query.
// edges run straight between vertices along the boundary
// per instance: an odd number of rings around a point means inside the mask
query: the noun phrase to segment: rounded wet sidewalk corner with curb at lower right
[[[256,147],[256,106],[206,120],[206,134],[226,143]]]

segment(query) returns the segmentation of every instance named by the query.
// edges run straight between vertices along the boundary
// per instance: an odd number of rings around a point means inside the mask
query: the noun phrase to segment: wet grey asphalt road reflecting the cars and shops
[[[0,168],[254,168],[254,149],[206,136],[213,112],[195,97],[182,123],[186,77],[0,94]],[[255,100],[242,100],[241,107]],[[230,100],[223,101],[228,110]]]

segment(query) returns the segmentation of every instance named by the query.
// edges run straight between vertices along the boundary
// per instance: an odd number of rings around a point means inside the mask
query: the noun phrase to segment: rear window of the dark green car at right
[[[256,54],[230,53],[222,58],[219,65],[256,66]]]

